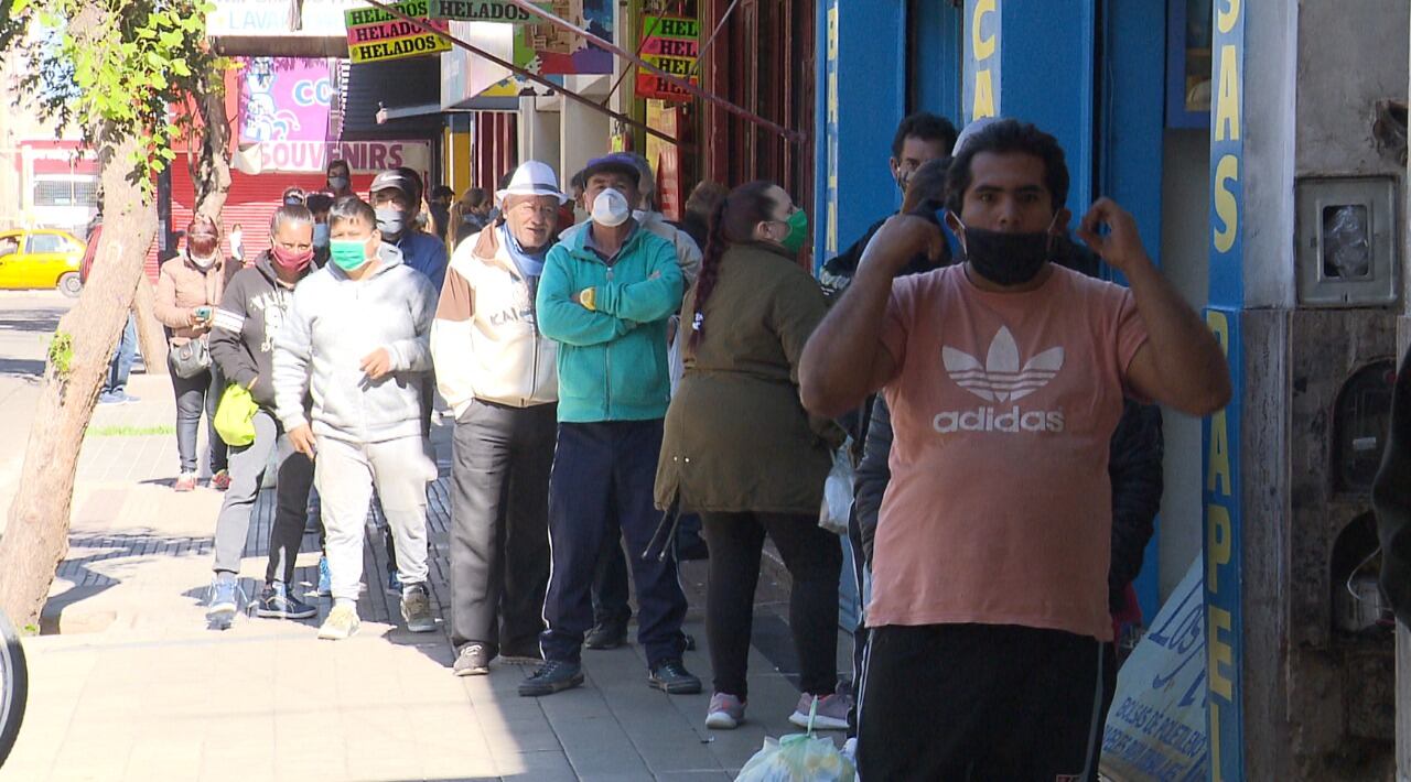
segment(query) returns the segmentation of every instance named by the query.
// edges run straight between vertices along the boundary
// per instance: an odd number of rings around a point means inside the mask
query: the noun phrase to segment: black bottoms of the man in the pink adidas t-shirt
[[[858,714],[862,779],[1088,779],[1102,644],[1003,624],[873,627]]]

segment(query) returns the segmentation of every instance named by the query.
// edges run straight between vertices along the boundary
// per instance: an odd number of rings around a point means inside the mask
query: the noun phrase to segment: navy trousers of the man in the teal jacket
[[[660,544],[643,558],[662,520],[652,504],[662,420],[559,424],[559,448],[549,480],[549,541],[553,569],[540,640],[545,659],[577,662],[583,635],[593,627],[593,576],[604,540],[626,541],[636,586],[638,643],[650,666],[686,650],[682,620],[686,595],[676,555],[659,558]]]

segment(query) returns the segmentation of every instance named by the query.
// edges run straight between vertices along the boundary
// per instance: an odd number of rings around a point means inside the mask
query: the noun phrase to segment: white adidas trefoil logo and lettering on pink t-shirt
[[[989,344],[985,362],[971,354],[944,345],[941,364],[959,387],[985,402],[1019,402],[1048,385],[1062,369],[1062,348],[1048,348],[1020,364],[1019,345],[1009,327],[999,327]],[[1020,410],[1019,404],[937,413],[931,426],[941,434],[983,433],[1061,433],[1062,410]]]

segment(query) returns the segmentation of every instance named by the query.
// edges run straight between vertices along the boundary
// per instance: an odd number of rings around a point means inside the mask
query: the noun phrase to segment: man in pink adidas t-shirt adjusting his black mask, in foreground
[[[950,176],[965,263],[893,282],[943,240],[926,220],[889,220],[800,365],[813,413],[878,389],[892,409],[859,772],[1088,779],[1123,396],[1208,414],[1229,371],[1118,204],[1095,203],[1078,235],[1130,290],[1048,262],[1071,217],[1051,135],[995,121]]]

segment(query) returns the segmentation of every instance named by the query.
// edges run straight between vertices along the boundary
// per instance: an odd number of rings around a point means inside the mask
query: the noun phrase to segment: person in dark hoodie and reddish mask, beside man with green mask
[[[312,271],[312,262],[313,214],[302,206],[282,206],[270,218],[270,249],[231,278],[216,310],[210,356],[222,376],[248,390],[260,406],[253,420],[254,442],[230,449],[230,489],[216,519],[216,576],[206,613],[216,627],[229,627],[243,607],[236,588],[240,559],[271,457],[279,476],[278,497],[270,565],[255,613],[270,619],[309,619],[317,613],[289,590],[303,541],[313,462],[293,449],[279,426],[274,392],[274,341],[288,317],[293,287]]]

